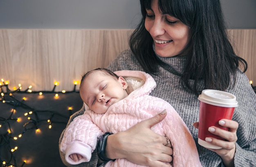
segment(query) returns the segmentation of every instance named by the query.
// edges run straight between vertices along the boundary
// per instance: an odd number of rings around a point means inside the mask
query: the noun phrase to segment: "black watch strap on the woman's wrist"
[[[97,154],[100,160],[102,160],[103,162],[107,162],[107,161],[115,161],[116,159],[109,159],[106,157],[105,155],[105,149],[106,149],[106,143],[107,143],[107,137],[108,135],[110,135],[112,133],[110,132],[106,132],[105,134],[103,134],[98,141],[98,145],[97,145]]]

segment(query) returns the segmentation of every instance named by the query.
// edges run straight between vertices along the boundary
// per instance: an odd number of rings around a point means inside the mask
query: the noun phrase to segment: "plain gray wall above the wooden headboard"
[[[256,28],[256,0],[222,0],[231,29]],[[131,29],[139,0],[0,0],[2,29]]]

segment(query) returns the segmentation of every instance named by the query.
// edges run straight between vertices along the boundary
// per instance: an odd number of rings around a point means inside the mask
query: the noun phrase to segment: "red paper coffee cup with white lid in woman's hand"
[[[232,119],[234,110],[238,106],[236,96],[220,90],[206,89],[199,95],[198,100],[200,100],[198,144],[206,148],[220,149],[221,147],[207,143],[205,138],[225,139],[210,133],[208,128],[216,126],[228,130],[227,127],[219,125],[219,121],[221,119]]]

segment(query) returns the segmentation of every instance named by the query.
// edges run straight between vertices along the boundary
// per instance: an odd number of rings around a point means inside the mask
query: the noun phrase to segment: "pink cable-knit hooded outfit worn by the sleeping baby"
[[[122,77],[137,77],[145,83],[132,91],[125,99],[111,105],[105,114],[96,114],[85,105],[83,115],[77,116],[66,127],[61,142],[61,151],[70,164],[88,162],[97,145],[97,138],[105,132],[117,133],[128,130],[142,120],[151,118],[167,110],[166,118],[151,129],[167,136],[173,146],[174,167],[201,167],[195,141],[179,114],[163,99],[152,97],[149,93],[155,88],[154,79],[141,71],[122,70],[115,72]],[[170,92],[171,93],[171,92]],[[81,154],[83,158],[74,162],[70,154]],[[126,159],[109,161],[106,167],[140,167]]]

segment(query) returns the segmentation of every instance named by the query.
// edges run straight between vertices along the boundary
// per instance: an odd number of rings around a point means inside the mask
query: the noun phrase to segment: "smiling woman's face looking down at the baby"
[[[145,20],[145,28],[155,42],[155,51],[161,57],[182,55],[189,42],[189,27],[171,15],[160,13],[157,2],[153,0],[152,9],[146,9]]]

